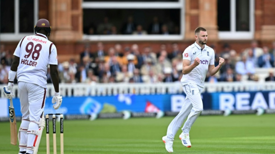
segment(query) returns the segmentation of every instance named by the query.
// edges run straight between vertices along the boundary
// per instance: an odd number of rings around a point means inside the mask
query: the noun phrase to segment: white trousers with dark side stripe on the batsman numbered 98
[[[18,91],[22,113],[20,127],[25,130],[19,132],[19,151],[32,154],[32,146],[36,135],[27,134],[27,131],[39,129],[36,122],[39,122],[44,111],[47,89],[36,84],[19,81]]]

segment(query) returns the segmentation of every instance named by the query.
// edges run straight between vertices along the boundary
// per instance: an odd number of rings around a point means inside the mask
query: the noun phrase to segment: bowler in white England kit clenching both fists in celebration
[[[168,152],[173,152],[175,134],[187,116],[187,120],[182,127],[183,132],[179,135],[179,138],[184,146],[191,147],[189,131],[203,110],[201,92],[206,73],[209,71],[210,75],[214,75],[223,65],[224,59],[219,57],[219,65],[214,66],[215,54],[214,50],[206,45],[207,36],[205,28],[196,28],[196,42],[187,47],[182,54],[183,76],[181,78],[181,86],[186,94],[186,98],[179,114],[168,126],[166,136],[162,137]]]

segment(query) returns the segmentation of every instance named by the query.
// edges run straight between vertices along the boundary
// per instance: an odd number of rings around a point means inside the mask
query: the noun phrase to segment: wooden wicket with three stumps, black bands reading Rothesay
[[[50,141],[49,141],[49,115],[52,115],[52,127],[53,127],[53,149],[54,154],[56,154],[56,117],[55,115],[60,115],[60,154],[64,154],[64,140],[63,140],[63,114],[46,114],[46,144],[47,144],[47,154],[50,153]]]

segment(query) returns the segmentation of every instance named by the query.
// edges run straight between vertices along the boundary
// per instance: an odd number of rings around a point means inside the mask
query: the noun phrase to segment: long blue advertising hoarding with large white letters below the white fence
[[[255,110],[275,109],[275,92],[217,92],[201,94],[204,110]],[[47,98],[45,114],[98,114],[128,110],[131,112],[179,112],[185,100],[185,94],[135,95],[119,94],[116,96],[63,97],[58,110],[52,108],[52,98]],[[8,116],[8,99],[1,99],[0,116]],[[17,116],[21,116],[20,102],[13,99]]]

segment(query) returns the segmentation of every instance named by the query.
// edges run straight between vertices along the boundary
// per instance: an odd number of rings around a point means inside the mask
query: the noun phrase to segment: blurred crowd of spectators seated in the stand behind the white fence
[[[166,45],[153,52],[150,46],[140,49],[138,44],[122,48],[115,44],[105,50],[104,44],[98,42],[97,51],[92,53],[90,45],[80,54],[80,62],[70,59],[58,64],[60,83],[159,83],[180,81],[182,77],[182,53],[177,43],[172,44],[173,50],[167,52]],[[214,45],[210,45],[216,52]],[[241,81],[246,75],[247,80],[258,81],[255,68],[269,68],[269,76],[265,81],[274,81],[275,42],[272,49],[258,47],[252,41],[251,47],[236,53],[228,44],[223,45],[223,51],[215,53],[215,65],[219,57],[225,63],[219,73],[207,75],[206,81]],[[5,51],[1,45],[0,84],[8,83],[8,72],[12,64],[12,51]],[[47,82],[51,83],[49,69]]]

